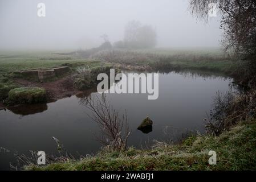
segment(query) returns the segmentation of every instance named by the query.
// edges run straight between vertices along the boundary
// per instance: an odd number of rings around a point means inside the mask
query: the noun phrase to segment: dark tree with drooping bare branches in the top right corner
[[[255,0],[189,0],[190,10],[199,19],[208,20],[210,5],[216,3],[221,13],[225,49],[234,48],[245,59],[256,58]]]

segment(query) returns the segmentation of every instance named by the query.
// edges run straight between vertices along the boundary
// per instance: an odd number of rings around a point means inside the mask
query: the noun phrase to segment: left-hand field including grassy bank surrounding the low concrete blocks
[[[28,77],[21,77],[14,75],[14,71],[25,71],[33,69],[51,69],[54,67],[68,66],[71,68],[71,72],[63,75],[62,78],[51,78],[44,80],[41,83],[39,80],[32,80]],[[8,97],[8,93],[11,89],[19,86],[39,86],[50,89],[47,90],[52,93],[57,93],[56,98],[67,97],[70,94],[74,94],[75,91],[72,88],[63,88],[63,84],[70,82],[71,75],[74,75],[75,69],[78,67],[90,67],[96,68],[101,65],[100,61],[85,60],[76,56],[63,56],[53,52],[1,52],[0,53],[0,108],[3,108],[2,100]],[[109,65],[108,63],[103,65]],[[45,82],[48,82],[45,83]],[[72,87],[72,84],[70,85]],[[59,91],[62,90],[61,96]],[[76,90],[77,91],[77,90]]]

